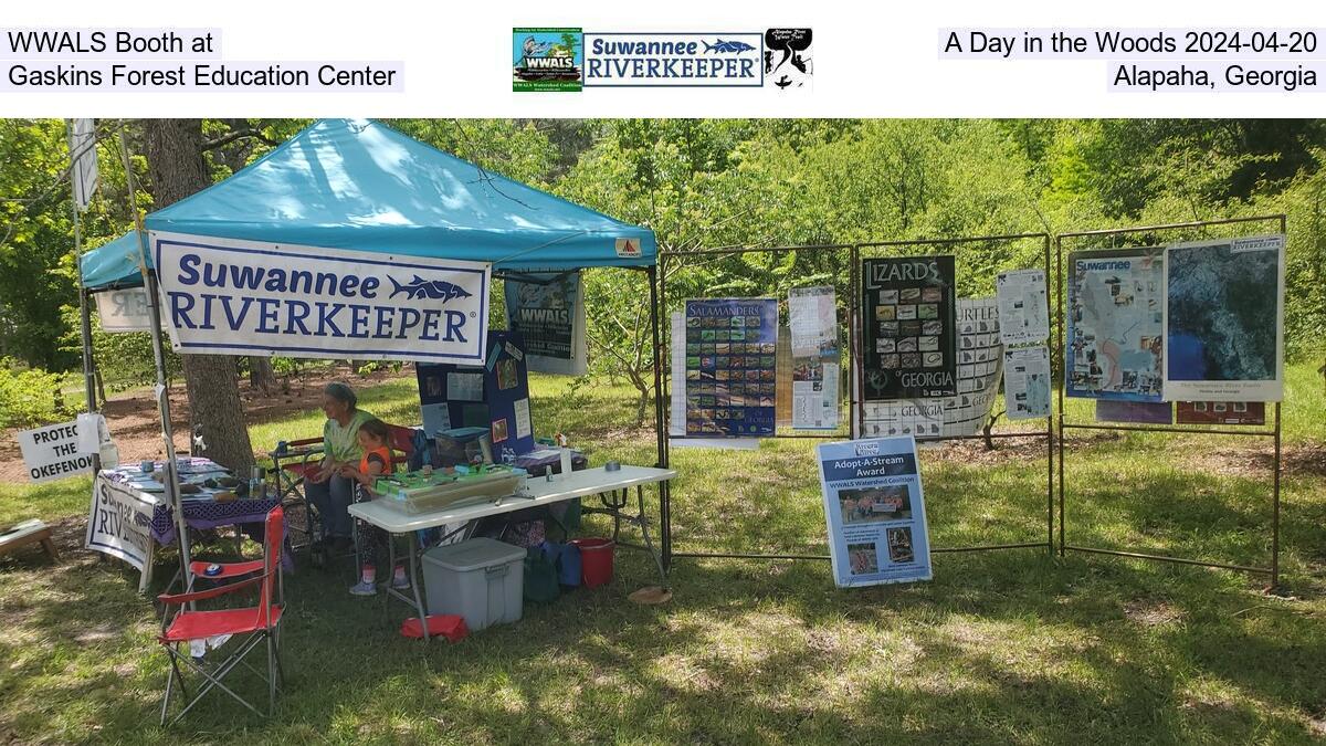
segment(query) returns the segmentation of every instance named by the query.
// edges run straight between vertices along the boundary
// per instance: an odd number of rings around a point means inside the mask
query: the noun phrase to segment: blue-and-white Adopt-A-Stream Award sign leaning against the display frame
[[[930,580],[930,530],[911,435],[822,443],[819,486],[839,588]]]

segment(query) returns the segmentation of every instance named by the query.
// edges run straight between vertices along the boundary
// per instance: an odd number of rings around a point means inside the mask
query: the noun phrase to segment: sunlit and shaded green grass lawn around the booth
[[[416,418],[412,380],[362,392]],[[1326,396],[1309,366],[1285,409],[1284,589],[1240,572],[1044,550],[936,555],[926,584],[838,591],[827,563],[678,559],[675,597],[639,607],[643,555],[617,580],[459,644],[399,637],[403,607],[345,591],[350,568],[289,579],[289,686],[273,721],[212,700],[156,726],[156,615],[117,563],[0,559],[0,741],[16,742],[936,742],[1290,743],[1326,738]],[[1087,402],[1069,417],[1086,421]],[[625,388],[534,381],[540,433],[593,463],[652,463]],[[310,411],[255,447],[316,434]],[[1093,435],[1093,437],[1087,437]],[[1069,542],[1268,561],[1270,441],[1075,435]],[[672,449],[678,551],[823,554],[814,442]],[[1315,449],[1315,450],[1314,450]],[[1045,539],[1044,441],[927,449],[934,544]],[[1305,455],[1306,454],[1306,455]],[[1315,454],[1313,457],[1311,454]],[[1260,470],[1260,471],[1258,471]],[[0,523],[78,531],[88,479],[0,486]],[[589,520],[586,532],[606,524]],[[159,559],[159,577],[171,558]],[[255,685],[240,678],[240,684]],[[256,692],[251,688],[249,690]]]

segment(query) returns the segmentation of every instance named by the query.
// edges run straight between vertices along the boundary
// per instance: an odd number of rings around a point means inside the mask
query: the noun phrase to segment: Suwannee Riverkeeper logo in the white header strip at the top
[[[762,33],[585,32],[585,88],[764,85]]]

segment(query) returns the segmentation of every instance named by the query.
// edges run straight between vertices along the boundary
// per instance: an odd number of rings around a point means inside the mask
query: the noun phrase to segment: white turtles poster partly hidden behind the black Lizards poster
[[[1004,345],[992,297],[957,300],[957,396],[863,402],[863,434],[953,438],[976,435],[998,396]]]

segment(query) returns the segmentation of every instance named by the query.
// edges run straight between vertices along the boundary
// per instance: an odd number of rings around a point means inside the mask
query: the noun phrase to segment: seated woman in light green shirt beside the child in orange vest
[[[358,466],[363,458],[359,445],[359,426],[374,419],[358,408],[354,389],[332,382],[322,389],[322,413],[328,415],[322,426],[322,461],[309,475],[305,492],[322,516],[324,547],[345,551],[350,547],[350,512],[354,499],[354,479],[341,475],[345,466]]]

